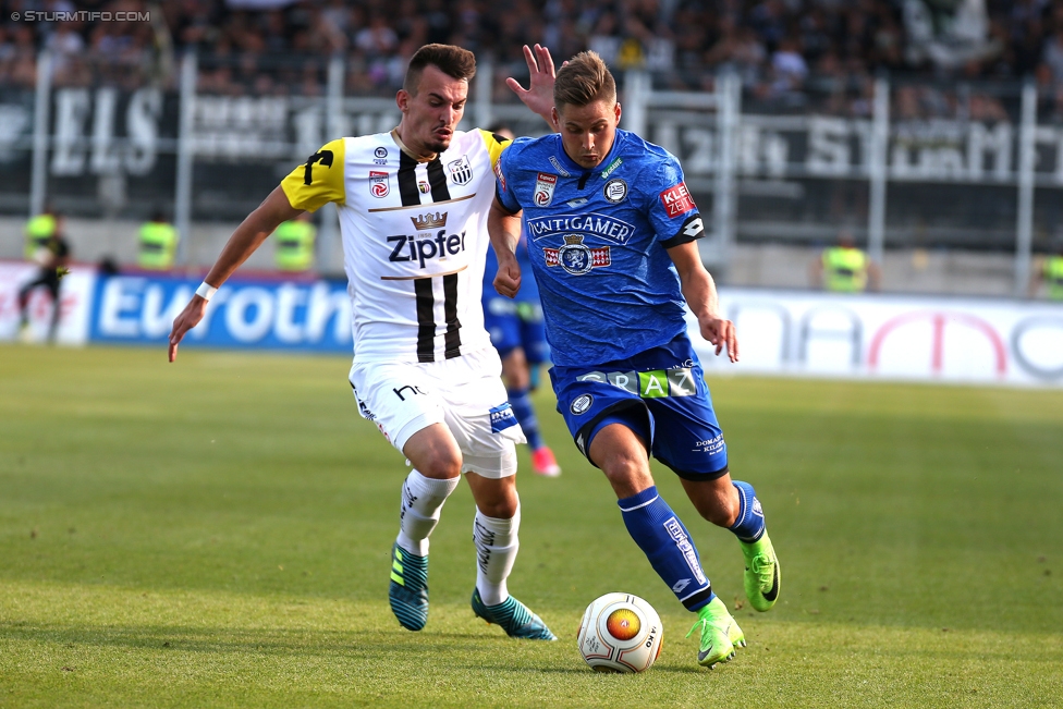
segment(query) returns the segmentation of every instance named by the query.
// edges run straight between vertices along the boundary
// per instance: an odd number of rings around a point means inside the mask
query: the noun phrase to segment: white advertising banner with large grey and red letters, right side
[[[720,306],[735,365],[687,316],[712,374],[1063,387],[1063,304],[721,288]]]

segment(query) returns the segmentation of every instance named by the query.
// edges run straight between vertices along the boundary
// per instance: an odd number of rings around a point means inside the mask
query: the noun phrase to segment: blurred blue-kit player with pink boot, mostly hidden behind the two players
[[[488,129],[491,133],[512,140],[513,131],[503,125]],[[527,278],[515,298],[508,298],[494,291],[494,273],[498,272],[498,256],[494,249],[487,249],[487,266],[484,269],[484,327],[491,335],[491,344],[502,358],[502,380],[505,395],[516,420],[528,439],[532,449],[532,469],[538,475],[557,477],[561,466],[553,451],[542,440],[539,420],[532,403],[532,392],[539,386],[539,367],[549,363],[550,345],[547,344],[546,327],[542,322],[542,306],[539,291],[535,286],[532,266],[528,259],[527,234],[521,233],[517,244],[517,258],[526,267]]]

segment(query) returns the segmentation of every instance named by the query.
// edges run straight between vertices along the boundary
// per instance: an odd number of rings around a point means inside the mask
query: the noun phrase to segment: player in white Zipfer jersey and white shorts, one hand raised
[[[553,63],[524,48],[532,83],[511,88],[550,123]],[[203,285],[173,322],[170,360],[215,291],[282,221],[332,201],[340,215],[353,304],[351,386],[413,470],[402,488],[389,599],[399,622],[428,620],[428,537],[465,479],[476,501],[476,615],[513,637],[555,639],[509,595],[521,504],[514,444],[524,436],[499,378],[480,306],[494,169],[509,140],[457,131],[476,72],[473,53],[427,45],[411,59],[389,133],[326,144],[236,229]]]

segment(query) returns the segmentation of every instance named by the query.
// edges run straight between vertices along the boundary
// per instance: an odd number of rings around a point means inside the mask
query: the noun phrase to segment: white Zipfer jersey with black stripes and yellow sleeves
[[[337,204],[355,362],[438,362],[490,345],[480,305],[508,140],[455,132],[429,161],[393,133],[333,140],[281,183],[293,207]]]

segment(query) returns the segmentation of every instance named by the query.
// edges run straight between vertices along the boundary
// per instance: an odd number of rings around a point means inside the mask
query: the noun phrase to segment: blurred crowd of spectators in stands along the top
[[[598,51],[615,70],[644,68],[658,86],[711,88],[730,66],[749,100],[799,106],[829,97],[832,112],[870,112],[873,77],[939,82],[1036,77],[1063,107],[1063,0],[5,0],[0,2],[0,85],[29,86],[36,52],[56,52],[56,82],[172,81],[173,56],[195,47],[200,90],[316,95],[326,60],[345,58],[349,94],[393,95],[426,42],[491,58],[502,76],[525,73],[521,47],[557,59]],[[27,22],[27,12],[56,20]],[[74,19],[70,17],[75,11]],[[137,11],[150,21],[89,12]],[[21,13],[23,20],[13,20]],[[40,15],[37,15],[39,17]],[[46,15],[47,17],[47,15]],[[97,66],[86,68],[86,56]],[[109,74],[108,74],[109,72]],[[501,82],[497,98],[508,100]],[[1058,97],[1058,98],[1056,98]],[[897,101],[928,103],[913,90]],[[911,107],[909,107],[911,108]],[[982,95],[973,118],[1002,109]]]

